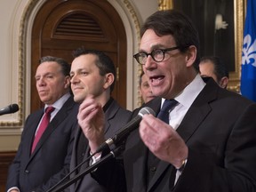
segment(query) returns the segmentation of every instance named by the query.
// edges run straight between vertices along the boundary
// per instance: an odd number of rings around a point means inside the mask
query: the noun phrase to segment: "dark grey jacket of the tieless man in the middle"
[[[131,118],[132,112],[121,108],[116,100],[113,100],[111,104],[108,106],[108,109],[105,112],[105,138],[108,139],[109,137],[114,136],[114,133],[117,132],[120,128],[122,128]],[[72,171],[76,167],[77,156],[84,156],[84,159],[89,156],[89,148],[88,148],[88,140],[84,138],[84,152],[83,154],[79,155],[77,151],[78,148],[78,139],[82,136],[84,137],[84,133],[82,132],[80,127],[77,127],[76,130],[76,137],[75,137],[75,144],[73,148],[72,160],[70,164],[70,171]],[[87,164],[84,164],[81,168],[81,171],[84,171]],[[77,172],[76,172],[77,173]],[[75,184],[70,186],[70,192],[100,192],[100,191],[107,191],[106,188],[103,188],[99,185],[95,180],[92,179],[90,174],[84,176],[83,179],[76,181]]]

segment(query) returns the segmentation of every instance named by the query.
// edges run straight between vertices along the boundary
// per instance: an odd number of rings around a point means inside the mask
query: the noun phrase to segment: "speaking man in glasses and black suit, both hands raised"
[[[188,17],[151,15],[134,58],[159,96],[145,104],[157,117],[144,115],[127,138],[124,172],[113,160],[93,177],[112,191],[256,191],[256,104],[199,76],[199,40]],[[82,116],[95,105],[84,102],[78,115],[92,152],[102,140],[102,111]]]

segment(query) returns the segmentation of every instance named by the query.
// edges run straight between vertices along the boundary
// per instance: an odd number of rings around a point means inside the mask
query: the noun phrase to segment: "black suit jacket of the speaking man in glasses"
[[[161,99],[157,98],[146,105],[157,114],[160,103]],[[125,176],[109,166],[102,166],[94,174],[104,183],[107,180],[104,174],[114,170],[112,178],[108,176],[107,187],[113,188],[115,180],[123,177],[129,192],[256,191],[255,116],[255,103],[220,88],[211,78],[177,129],[188,145],[188,163],[174,188],[170,180],[176,170],[164,161],[158,164],[152,180],[146,182],[146,174],[150,172],[147,171],[148,148],[140,140],[138,129],[126,141]],[[124,180],[119,186],[123,188],[116,188],[116,192],[125,191]]]

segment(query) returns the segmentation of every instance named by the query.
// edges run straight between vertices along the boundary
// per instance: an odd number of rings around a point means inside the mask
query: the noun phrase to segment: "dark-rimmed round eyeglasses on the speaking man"
[[[171,52],[172,50],[176,50],[176,49],[180,49],[180,47],[176,46],[176,47],[167,48],[167,49],[156,49],[150,53],[139,52],[133,55],[133,57],[137,60],[137,62],[140,63],[140,65],[145,65],[148,55],[150,55],[153,58],[153,60],[155,60],[156,62],[161,62],[164,60],[165,52]]]

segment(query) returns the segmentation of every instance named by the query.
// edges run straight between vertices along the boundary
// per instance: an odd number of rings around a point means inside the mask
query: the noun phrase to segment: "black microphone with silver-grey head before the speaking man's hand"
[[[119,131],[117,131],[114,137],[111,137],[108,140],[106,140],[104,143],[102,143],[100,145],[100,148],[98,148],[96,152],[94,152],[93,154],[100,153],[100,151],[102,151],[107,147],[110,147],[112,144],[116,145],[120,141],[124,140],[124,138],[126,138],[128,134],[130,134],[130,132],[132,132],[139,126],[142,116],[146,114],[148,115],[151,114],[153,116],[156,116],[156,113],[152,108],[148,108],[148,107],[141,108],[137,116],[135,116],[128,124],[126,124],[123,129],[120,129]]]

